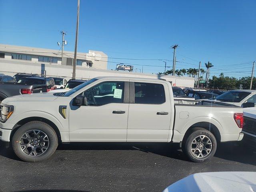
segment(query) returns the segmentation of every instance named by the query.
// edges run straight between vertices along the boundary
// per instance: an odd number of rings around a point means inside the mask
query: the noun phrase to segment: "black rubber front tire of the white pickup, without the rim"
[[[26,154],[21,146],[20,146],[20,140],[21,137],[31,130],[39,130],[46,134],[48,139],[48,148],[42,152],[42,154],[38,156],[30,156]],[[22,160],[26,162],[40,162],[43,160],[48,159],[52,154],[55,152],[56,148],[58,147],[58,137],[54,129],[41,121],[31,121],[24,125],[22,125],[18,130],[14,133],[14,136],[12,138],[12,147],[15,152],[15,154]],[[30,147],[32,149],[32,147]]]

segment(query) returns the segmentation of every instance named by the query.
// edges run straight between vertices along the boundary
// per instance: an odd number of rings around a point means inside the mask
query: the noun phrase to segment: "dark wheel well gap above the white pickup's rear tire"
[[[198,123],[193,124],[186,131],[184,138],[186,138],[186,136],[188,136],[194,130],[195,127],[204,128],[204,129],[210,131],[216,138],[217,142],[220,142],[220,140],[221,140],[220,131],[214,124],[209,123],[209,122],[198,122]]]

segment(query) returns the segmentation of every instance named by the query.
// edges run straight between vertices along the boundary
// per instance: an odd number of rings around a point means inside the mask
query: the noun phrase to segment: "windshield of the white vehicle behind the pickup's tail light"
[[[246,96],[250,95],[250,92],[241,92],[241,91],[228,91],[218,97],[216,100],[224,101],[224,102],[240,102]]]

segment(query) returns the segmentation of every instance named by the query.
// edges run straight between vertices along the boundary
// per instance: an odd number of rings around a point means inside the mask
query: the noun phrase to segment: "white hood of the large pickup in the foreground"
[[[24,94],[24,95],[16,95],[12,97],[8,97],[2,101],[2,103],[7,104],[8,102],[38,102],[38,101],[53,101],[57,96],[52,93],[34,93],[34,94]]]

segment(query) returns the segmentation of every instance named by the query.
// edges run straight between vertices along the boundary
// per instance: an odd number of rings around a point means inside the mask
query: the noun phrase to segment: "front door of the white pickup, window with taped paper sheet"
[[[71,142],[126,142],[129,82],[100,82],[82,92],[87,106],[70,104]]]

